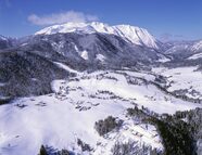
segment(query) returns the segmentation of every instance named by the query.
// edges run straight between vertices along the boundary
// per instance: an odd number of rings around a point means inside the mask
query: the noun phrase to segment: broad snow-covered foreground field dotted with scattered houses
[[[169,70],[173,75],[176,72]],[[136,80],[136,85],[129,83],[123,73]],[[187,80],[191,78],[186,76],[184,78]],[[144,83],[141,78],[154,80],[154,76],[147,73],[83,73],[68,80],[53,81],[55,93],[22,98],[12,104],[1,105],[0,154],[36,155],[41,144],[89,154],[81,152],[77,139],[89,144],[93,148],[90,154],[93,155],[110,155],[115,142],[127,140],[163,150],[155,127],[147,125],[146,128],[144,124],[136,124],[126,117],[126,109],[136,104],[159,114],[174,114],[176,111],[202,105],[175,99],[155,86]],[[119,130],[100,137],[94,129],[94,122],[108,116],[123,119],[123,126]]]

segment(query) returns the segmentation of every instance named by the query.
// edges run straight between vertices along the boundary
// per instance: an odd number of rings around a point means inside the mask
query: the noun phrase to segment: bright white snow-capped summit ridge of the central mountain
[[[130,25],[115,25],[92,22],[92,23],[66,23],[43,28],[36,35],[52,35],[56,33],[103,33],[112,34],[124,38],[126,41],[148,48],[159,49],[157,40],[144,28]]]

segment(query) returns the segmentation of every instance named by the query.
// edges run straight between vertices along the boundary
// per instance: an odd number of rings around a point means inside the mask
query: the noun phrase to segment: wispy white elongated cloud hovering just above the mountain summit
[[[53,25],[67,22],[92,22],[98,21],[98,17],[83,12],[67,11],[42,16],[30,14],[27,20],[35,25]]]

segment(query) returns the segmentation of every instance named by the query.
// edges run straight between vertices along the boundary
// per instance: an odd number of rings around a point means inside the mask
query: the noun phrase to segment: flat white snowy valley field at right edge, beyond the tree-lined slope
[[[186,90],[185,94],[193,99],[202,99],[202,73],[197,67],[153,68],[153,72],[167,77],[171,83],[168,91]]]

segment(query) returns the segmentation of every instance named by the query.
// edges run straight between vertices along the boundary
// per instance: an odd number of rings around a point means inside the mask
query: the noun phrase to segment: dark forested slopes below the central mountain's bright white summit
[[[20,46],[22,50],[49,56],[52,53],[65,57],[71,66],[84,63],[92,67],[126,67],[135,64],[154,63],[165,59],[163,53],[146,46],[126,41],[123,37],[112,34],[65,33],[52,35],[35,35]],[[38,47],[38,48],[37,48]],[[55,56],[53,57],[55,59]],[[75,62],[77,65],[73,65]]]

